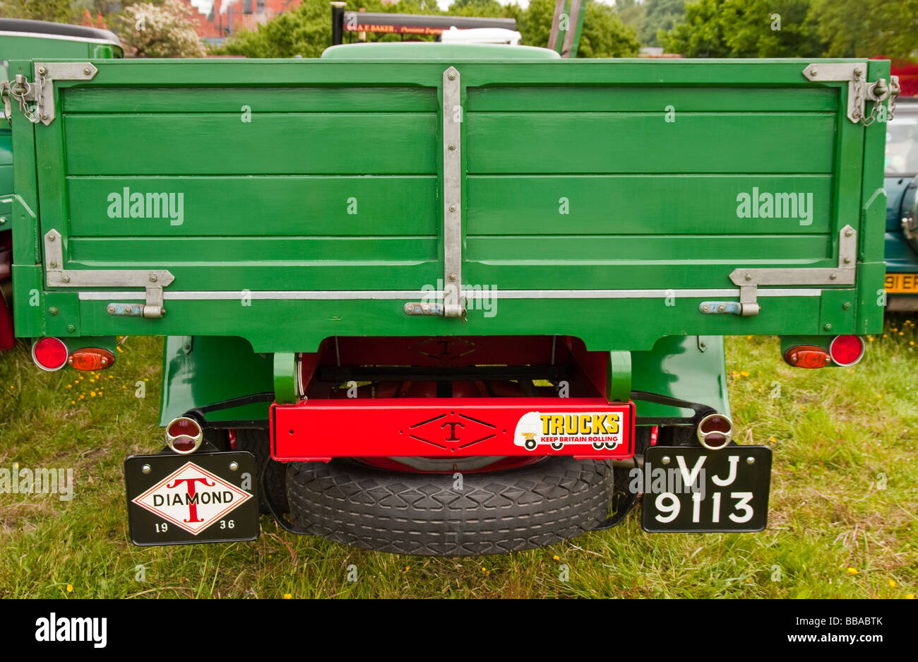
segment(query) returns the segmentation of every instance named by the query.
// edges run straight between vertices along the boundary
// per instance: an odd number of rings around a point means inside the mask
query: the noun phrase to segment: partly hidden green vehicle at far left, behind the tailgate
[[[9,80],[7,64],[23,58],[120,58],[121,43],[113,33],[25,18],[0,18],[0,81]],[[0,124],[0,350],[13,346],[13,322],[8,301],[13,264],[13,240],[9,232],[13,203],[13,136]]]

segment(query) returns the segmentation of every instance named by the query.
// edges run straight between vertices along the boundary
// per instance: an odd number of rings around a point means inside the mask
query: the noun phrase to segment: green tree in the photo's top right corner
[[[918,56],[918,0],[813,0],[829,57]]]

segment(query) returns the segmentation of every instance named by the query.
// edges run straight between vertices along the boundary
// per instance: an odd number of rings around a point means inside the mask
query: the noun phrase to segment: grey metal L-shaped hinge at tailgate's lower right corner
[[[838,266],[814,269],[734,269],[730,275],[733,285],[740,286],[739,309],[728,309],[728,303],[735,302],[706,301],[701,305],[701,312],[733,312],[743,317],[758,315],[759,305],[756,299],[760,285],[854,285],[856,276],[857,231],[845,225],[839,231]],[[704,309],[717,305],[717,309]],[[724,309],[720,309],[723,305]]]

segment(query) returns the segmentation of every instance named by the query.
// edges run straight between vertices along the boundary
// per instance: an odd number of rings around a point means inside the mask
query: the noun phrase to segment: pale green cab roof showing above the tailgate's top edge
[[[554,50],[507,44],[442,44],[430,41],[341,44],[322,53],[325,60],[560,60]]]

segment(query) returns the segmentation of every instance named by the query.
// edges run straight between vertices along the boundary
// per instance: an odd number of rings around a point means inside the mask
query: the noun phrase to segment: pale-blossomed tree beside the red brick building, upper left
[[[128,6],[118,17],[121,41],[138,58],[204,57],[207,51],[187,12],[179,0]]]

